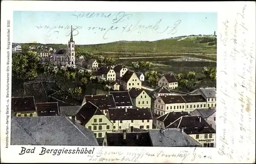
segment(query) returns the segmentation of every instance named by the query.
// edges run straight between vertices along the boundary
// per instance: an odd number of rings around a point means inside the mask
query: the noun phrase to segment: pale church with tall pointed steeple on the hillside
[[[75,65],[75,42],[71,25],[70,40],[67,48],[61,48],[50,57],[50,63],[56,66]]]

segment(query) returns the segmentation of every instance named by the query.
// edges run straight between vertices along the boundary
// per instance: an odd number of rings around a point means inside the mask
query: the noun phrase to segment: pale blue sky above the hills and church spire
[[[155,41],[186,35],[213,35],[217,13],[14,11],[13,42],[75,44]]]

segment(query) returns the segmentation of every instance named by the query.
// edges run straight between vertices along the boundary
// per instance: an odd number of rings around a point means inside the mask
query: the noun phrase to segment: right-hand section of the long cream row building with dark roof
[[[206,99],[202,95],[181,95],[182,98],[186,101],[186,109],[187,112],[192,112],[196,108],[205,108],[206,107]]]

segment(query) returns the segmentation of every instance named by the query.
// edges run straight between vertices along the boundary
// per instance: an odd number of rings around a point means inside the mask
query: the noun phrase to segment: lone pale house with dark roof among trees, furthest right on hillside
[[[178,81],[173,73],[163,74],[158,80],[158,86],[164,86],[168,89],[178,88]]]

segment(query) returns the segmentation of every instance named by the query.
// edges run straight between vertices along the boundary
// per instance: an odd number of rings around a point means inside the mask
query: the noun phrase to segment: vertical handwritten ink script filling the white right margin
[[[234,154],[235,147],[246,147],[245,145],[254,144],[252,140],[252,121],[251,109],[254,100],[249,95],[255,95],[254,75],[255,54],[253,49],[255,43],[250,41],[248,21],[246,17],[247,5],[241,6],[240,11],[235,15],[235,19],[227,19],[222,22],[223,33],[220,33],[222,45],[222,70],[224,84],[221,87],[220,98],[223,115],[219,117],[220,124],[225,124],[220,129],[220,147],[218,153],[230,159],[239,156],[239,160],[249,160],[250,150],[241,151]],[[229,78],[230,77],[230,78]],[[232,80],[230,80],[232,79]],[[230,110],[231,109],[231,110]],[[229,120],[229,119],[230,120]],[[233,119],[233,120],[231,120]],[[230,127],[230,128],[227,128]]]

